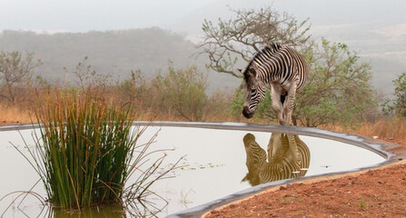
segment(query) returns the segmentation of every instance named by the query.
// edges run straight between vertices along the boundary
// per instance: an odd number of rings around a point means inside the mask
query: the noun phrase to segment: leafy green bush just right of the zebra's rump
[[[293,123],[309,127],[324,124],[359,124],[377,107],[370,84],[371,64],[361,61],[347,45],[322,44],[304,55],[308,80],[296,94]]]

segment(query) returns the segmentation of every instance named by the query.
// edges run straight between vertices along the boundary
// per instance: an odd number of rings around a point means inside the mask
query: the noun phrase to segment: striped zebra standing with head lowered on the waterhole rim
[[[272,108],[279,124],[290,125],[295,94],[306,82],[307,66],[301,54],[287,45],[272,44],[255,54],[243,74],[245,99],[243,115],[252,118],[265,97],[265,88],[271,91]]]

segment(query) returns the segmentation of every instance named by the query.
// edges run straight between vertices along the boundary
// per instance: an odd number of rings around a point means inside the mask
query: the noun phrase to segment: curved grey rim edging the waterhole
[[[399,162],[400,160],[406,159],[406,152],[393,154],[389,150],[401,147],[399,144],[393,144],[381,140],[372,139],[370,137],[365,137],[361,135],[345,134],[339,132],[332,132],[327,130],[321,130],[309,127],[298,127],[292,125],[267,125],[267,124],[245,124],[245,123],[200,123],[200,122],[134,122],[134,125],[149,125],[149,126],[174,126],[174,127],[194,127],[194,128],[209,128],[209,129],[222,129],[222,130],[238,130],[238,131],[250,131],[250,132],[264,132],[264,133],[278,133],[278,134],[300,134],[319,138],[325,138],[329,140],[334,140],[342,142],[345,144],[352,144],[364,149],[367,149],[375,154],[381,155],[385,161],[382,163],[373,164],[370,166],[352,169],[350,171],[336,172],[336,173],[323,173],[312,176],[305,176],[293,179],[286,179],[281,181],[275,181],[272,183],[262,183],[240,192],[233,193],[223,198],[214,200],[209,203],[204,203],[199,206],[195,206],[188,210],[184,210],[178,213],[173,213],[167,217],[201,217],[204,213],[208,213],[216,208],[222,207],[223,205],[237,202],[253,196],[256,193],[262,193],[272,187],[278,187],[287,183],[297,183],[305,180],[311,180],[314,178],[353,173],[362,170],[368,170],[373,168],[378,168],[384,165],[389,165],[391,163]],[[38,124],[18,124],[18,125],[7,125],[0,126],[1,131],[18,131],[24,129],[38,128]]]

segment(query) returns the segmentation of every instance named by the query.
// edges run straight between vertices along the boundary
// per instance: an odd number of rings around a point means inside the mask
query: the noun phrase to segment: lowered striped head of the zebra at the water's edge
[[[265,97],[265,89],[256,77],[256,71],[250,66],[239,71],[243,74],[245,99],[243,103],[243,115],[252,118],[257,108]]]

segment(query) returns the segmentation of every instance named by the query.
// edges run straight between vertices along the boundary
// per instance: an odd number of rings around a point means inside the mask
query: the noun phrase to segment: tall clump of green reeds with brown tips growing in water
[[[144,167],[150,154],[162,151],[148,151],[156,134],[137,145],[146,127],[132,128],[133,108],[116,107],[92,92],[56,93],[35,113],[35,149],[28,149],[32,158],[25,156],[43,180],[49,202],[79,211],[100,203],[138,208],[134,201],[153,194],[150,186],[176,165],[157,173],[163,155]],[[124,189],[135,172],[135,182]]]

